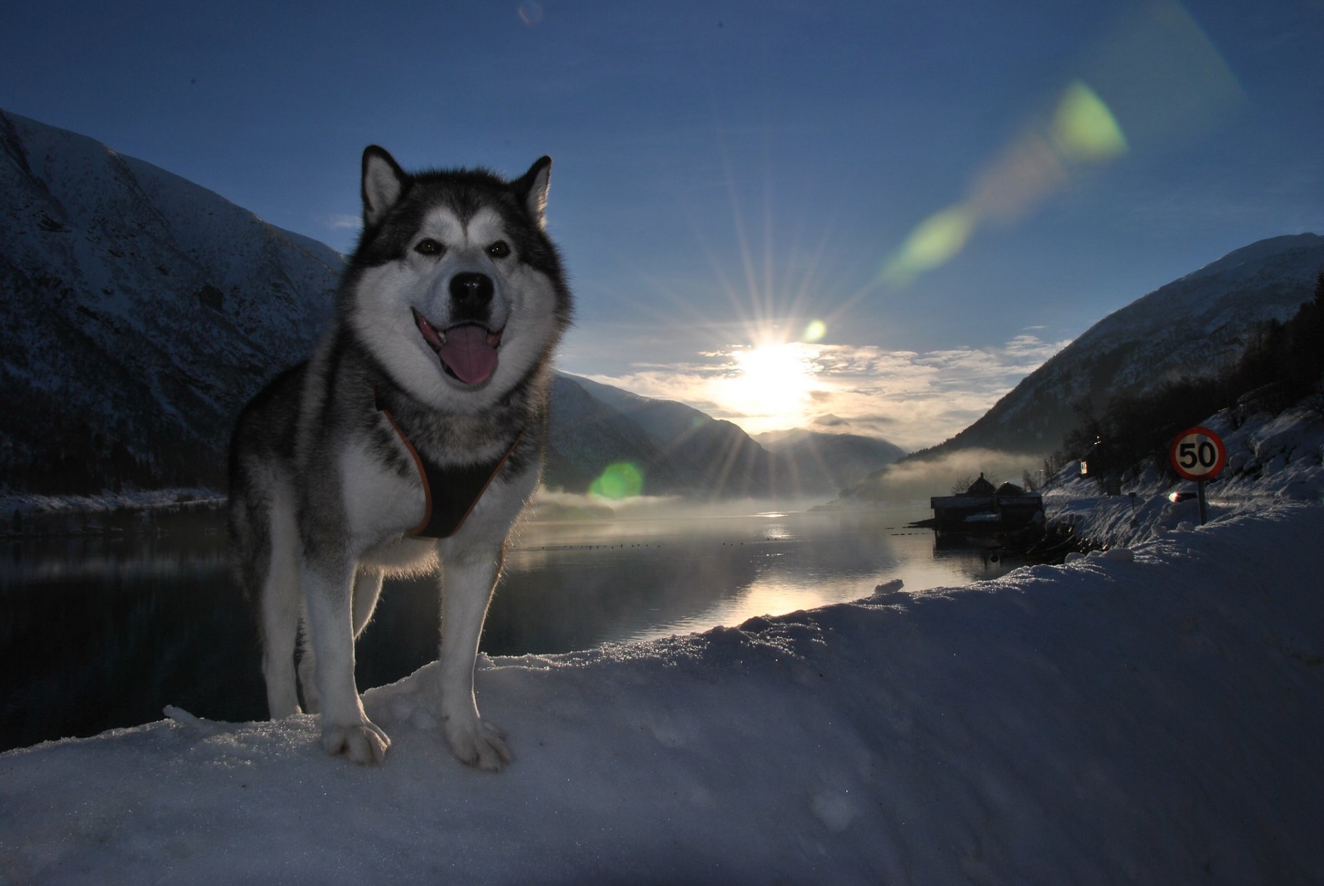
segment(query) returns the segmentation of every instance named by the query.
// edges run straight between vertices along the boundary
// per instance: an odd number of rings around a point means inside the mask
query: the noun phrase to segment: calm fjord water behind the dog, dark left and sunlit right
[[[765,511],[531,522],[507,559],[482,649],[557,653],[739,625],[997,577],[996,551],[906,528],[923,511]],[[221,520],[164,535],[9,542],[0,560],[0,750],[162,718],[265,716],[257,630]],[[359,687],[436,658],[432,580],[388,581],[357,646]]]

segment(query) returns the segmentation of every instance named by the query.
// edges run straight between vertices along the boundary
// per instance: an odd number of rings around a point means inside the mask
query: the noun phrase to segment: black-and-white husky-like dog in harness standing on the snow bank
[[[478,715],[474,660],[506,538],[534,494],[551,358],[571,294],[543,211],[551,158],[519,179],[410,175],[363,152],[363,234],[314,354],[244,409],[230,542],[257,603],[273,719],[322,715],[322,746],[380,763],[354,644],[384,576],[445,573],[441,718],[465,763],[510,762]]]

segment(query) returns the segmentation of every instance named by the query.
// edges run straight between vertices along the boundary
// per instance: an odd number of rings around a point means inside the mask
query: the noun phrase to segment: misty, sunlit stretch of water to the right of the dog
[[[997,577],[1012,564],[978,551],[937,551],[924,517],[907,510],[804,513],[767,510],[736,517],[666,517],[531,523],[507,559],[485,649],[565,652],[609,641],[657,640],[737,626],[858,600],[878,584],[904,581],[923,593]],[[506,618],[545,612],[565,636],[496,642]],[[520,628],[519,630],[528,630]],[[495,634],[494,634],[495,632]]]

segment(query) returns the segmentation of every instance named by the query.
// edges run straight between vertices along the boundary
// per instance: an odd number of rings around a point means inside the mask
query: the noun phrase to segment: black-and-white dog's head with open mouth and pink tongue
[[[544,230],[551,158],[519,179],[409,175],[363,152],[363,234],[342,311],[395,380],[438,408],[477,411],[542,364],[571,299]]]

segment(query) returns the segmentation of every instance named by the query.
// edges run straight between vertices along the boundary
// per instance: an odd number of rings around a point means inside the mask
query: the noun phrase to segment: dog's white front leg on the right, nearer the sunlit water
[[[463,763],[496,772],[510,763],[504,735],[478,715],[474,662],[500,551],[446,560],[441,592],[441,719],[450,750]]]

